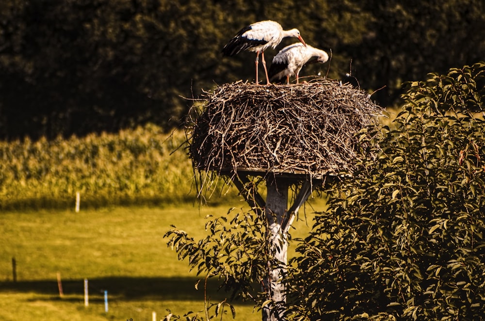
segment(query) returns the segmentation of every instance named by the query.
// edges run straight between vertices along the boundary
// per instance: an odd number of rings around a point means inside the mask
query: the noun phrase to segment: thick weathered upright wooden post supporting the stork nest
[[[275,301],[275,306],[266,305],[262,309],[263,321],[282,320],[286,308],[286,290],[281,281],[281,273],[287,269],[288,239],[283,236],[281,224],[288,206],[288,188],[290,184],[284,178],[269,177],[266,179],[267,249],[270,257],[279,261],[278,266],[268,262],[268,277],[263,282],[263,290],[268,299]]]

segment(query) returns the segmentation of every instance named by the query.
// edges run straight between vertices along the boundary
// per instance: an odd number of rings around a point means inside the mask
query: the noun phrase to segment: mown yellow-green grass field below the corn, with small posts
[[[321,210],[323,200],[310,204]],[[166,309],[178,315],[204,308],[197,276],[167,248],[170,225],[195,239],[204,237],[207,214],[223,215],[244,202],[217,207],[182,205],[166,208],[108,208],[74,211],[3,212],[0,214],[0,320],[152,320]],[[313,210],[307,206],[307,220]],[[309,223],[310,224],[310,223]],[[304,219],[292,236],[305,235]],[[293,248],[290,247],[290,253]],[[12,257],[16,259],[14,283]],[[56,275],[61,274],[64,296]],[[84,306],[83,280],[89,282]],[[211,302],[225,298],[210,284]],[[109,311],[104,311],[103,290]],[[236,320],[260,320],[247,303],[234,303]],[[226,319],[229,320],[230,318]]]

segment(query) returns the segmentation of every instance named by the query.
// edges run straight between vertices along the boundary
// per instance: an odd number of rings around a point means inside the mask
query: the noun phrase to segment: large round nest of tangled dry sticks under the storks
[[[335,80],[298,85],[241,81],[205,92],[192,119],[194,168],[219,174],[284,173],[321,179],[352,173],[355,134],[381,109],[365,91]],[[194,115],[194,113],[192,113]]]

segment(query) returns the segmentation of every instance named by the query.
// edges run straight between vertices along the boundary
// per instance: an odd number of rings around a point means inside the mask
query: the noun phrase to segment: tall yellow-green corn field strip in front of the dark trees
[[[182,131],[146,125],[116,134],[0,142],[0,209],[194,200]],[[181,148],[178,148],[182,145]]]

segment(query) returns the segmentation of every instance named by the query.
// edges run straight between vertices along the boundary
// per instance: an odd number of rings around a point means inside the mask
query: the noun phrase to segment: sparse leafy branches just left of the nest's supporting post
[[[258,305],[266,297],[261,293],[260,285],[271,261],[264,242],[266,227],[263,217],[252,212],[236,212],[231,208],[226,216],[208,216],[207,219],[206,238],[195,241],[185,231],[173,226],[164,236],[169,238],[168,246],[177,251],[179,260],[188,258],[191,270],[196,269],[198,275],[205,275],[206,280],[218,278],[220,289],[231,292],[231,300],[241,298]],[[222,319],[224,311],[220,309],[221,305],[228,305],[232,317],[235,317],[234,307],[226,300],[218,304],[206,302],[205,311],[201,311],[205,312],[205,319],[201,312],[188,312],[184,318],[171,313],[170,317],[191,321]],[[213,307],[214,312],[210,312]]]

